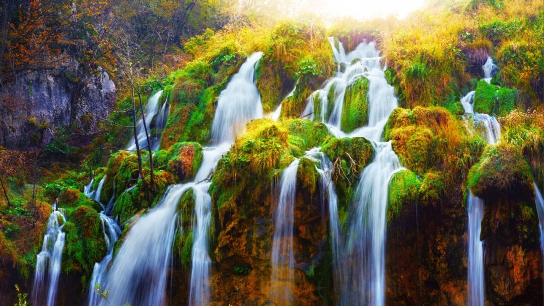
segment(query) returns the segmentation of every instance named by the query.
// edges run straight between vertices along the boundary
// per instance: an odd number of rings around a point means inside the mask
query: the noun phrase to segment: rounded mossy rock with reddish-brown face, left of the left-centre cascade
[[[202,146],[198,142],[177,142],[168,149],[168,169],[181,181],[195,176],[202,163]]]

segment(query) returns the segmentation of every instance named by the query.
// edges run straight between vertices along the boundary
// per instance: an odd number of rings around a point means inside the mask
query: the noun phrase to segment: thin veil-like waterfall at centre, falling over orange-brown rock
[[[280,178],[280,197],[274,211],[270,299],[279,305],[293,302],[291,290],[294,284],[293,221],[299,161],[293,160],[283,170]]]

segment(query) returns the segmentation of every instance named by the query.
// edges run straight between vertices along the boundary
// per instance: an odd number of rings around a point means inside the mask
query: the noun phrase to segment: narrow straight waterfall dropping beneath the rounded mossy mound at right
[[[484,242],[480,240],[484,201],[468,193],[468,305],[484,306]]]

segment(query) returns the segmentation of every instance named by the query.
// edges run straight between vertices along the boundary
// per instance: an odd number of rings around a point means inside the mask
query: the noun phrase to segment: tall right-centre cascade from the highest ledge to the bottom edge
[[[335,238],[332,240],[332,249],[333,263],[336,263],[335,288],[339,297],[338,304],[381,306],[385,301],[385,220],[388,186],[391,176],[402,167],[393,152],[391,142],[380,140],[387,119],[397,108],[398,103],[393,86],[387,84],[385,68],[380,64],[379,51],[376,50],[374,42],[363,42],[348,54],[345,53],[341,42],[338,42],[338,48],[332,38],[330,42],[338,62],[338,72],[323,89],[312,93],[302,117],[313,119],[314,95],[319,95],[322,108],[320,121],[326,123],[332,135],[337,138],[364,137],[372,141],[375,148],[374,160],[361,173],[355,192],[353,202],[357,205],[350,218],[345,248],[340,244],[336,202],[334,198],[332,202],[331,198],[329,199],[331,237]],[[344,72],[343,66],[346,67]],[[361,76],[369,81],[368,126],[357,128],[347,134],[340,126],[345,89]],[[335,86],[335,98],[332,101],[335,104],[327,119],[324,114],[330,102],[327,101],[327,93],[331,86]]]

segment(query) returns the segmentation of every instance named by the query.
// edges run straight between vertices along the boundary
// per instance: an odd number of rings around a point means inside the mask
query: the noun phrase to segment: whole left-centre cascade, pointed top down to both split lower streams
[[[195,196],[193,250],[191,263],[190,305],[204,305],[210,300],[208,232],[211,222],[210,177],[239,127],[262,117],[261,96],[254,83],[254,69],[262,53],[248,58],[227,88],[221,92],[212,125],[214,145],[203,148],[202,164],[193,182],[171,185],[157,206],[141,216],[120,247],[113,265],[104,278],[112,305],[130,303],[164,305],[166,281],[176,233],[177,204],[189,189]],[[256,93],[256,94],[254,94]],[[248,98],[248,94],[251,99]],[[180,229],[183,230],[183,229]],[[102,301],[100,305],[106,306]]]

